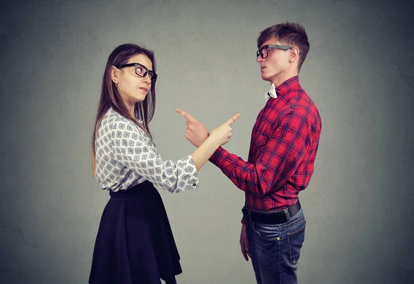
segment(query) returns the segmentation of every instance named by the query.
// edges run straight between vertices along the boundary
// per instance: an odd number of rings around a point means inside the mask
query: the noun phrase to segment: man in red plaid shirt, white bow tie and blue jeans
[[[257,48],[262,79],[271,86],[253,126],[248,162],[221,147],[210,162],[245,191],[240,245],[257,283],[297,283],[306,225],[297,195],[313,175],[322,131],[319,111],[299,85],[308,37],[298,23],[279,23],[260,33]],[[177,112],[187,119],[186,138],[199,146],[206,126]]]

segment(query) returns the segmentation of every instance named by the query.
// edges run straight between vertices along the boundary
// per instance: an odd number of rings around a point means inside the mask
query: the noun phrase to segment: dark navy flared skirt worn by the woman
[[[103,210],[90,284],[174,284],[182,272],[164,203],[151,182],[110,192]]]

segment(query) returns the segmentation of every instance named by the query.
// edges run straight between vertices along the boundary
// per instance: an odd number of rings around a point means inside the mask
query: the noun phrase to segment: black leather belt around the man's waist
[[[263,224],[282,224],[288,222],[290,217],[294,216],[295,214],[297,214],[297,212],[299,212],[300,208],[300,202],[298,199],[294,205],[279,211],[252,211],[244,207],[242,209],[242,212],[244,218],[252,222]]]

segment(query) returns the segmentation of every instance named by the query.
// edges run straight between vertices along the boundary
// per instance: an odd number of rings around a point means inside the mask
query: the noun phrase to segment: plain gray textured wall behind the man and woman
[[[411,1],[412,2],[412,1]],[[164,159],[194,147],[179,107],[208,129],[241,113],[225,148],[246,159],[264,105],[260,30],[303,23],[301,84],[322,115],[299,283],[413,283],[413,3],[408,1],[3,1],[0,12],[0,282],[86,283],[108,193],[91,176],[103,68],[126,42],[155,50],[150,124]],[[217,115],[211,115],[212,111]],[[239,249],[244,194],[213,164],[200,187],[161,192],[179,283],[254,283]]]

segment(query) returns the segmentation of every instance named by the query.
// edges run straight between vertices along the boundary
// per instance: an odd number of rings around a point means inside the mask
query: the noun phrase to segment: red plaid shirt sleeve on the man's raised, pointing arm
[[[279,126],[270,136],[255,164],[219,147],[210,158],[243,191],[264,196],[276,191],[295,173],[311,145],[313,117],[304,108],[281,113]]]

